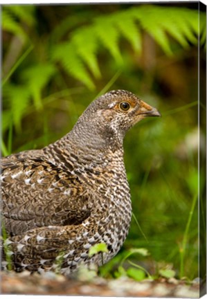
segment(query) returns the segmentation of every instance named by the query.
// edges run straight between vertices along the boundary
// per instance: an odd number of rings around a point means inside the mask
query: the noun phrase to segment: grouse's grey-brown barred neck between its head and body
[[[123,165],[123,138],[115,136],[110,129],[87,125],[75,125],[69,134],[44,148],[55,164],[73,161],[73,166],[80,165]],[[77,165],[76,165],[77,164]],[[90,167],[91,167],[90,166]]]

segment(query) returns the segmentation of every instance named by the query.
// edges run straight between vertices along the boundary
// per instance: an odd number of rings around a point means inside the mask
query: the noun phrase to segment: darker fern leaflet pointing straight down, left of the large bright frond
[[[30,94],[37,109],[42,108],[42,89],[55,73],[55,66],[50,63],[30,66],[22,73],[22,78],[26,80],[30,89]]]

